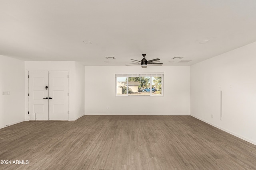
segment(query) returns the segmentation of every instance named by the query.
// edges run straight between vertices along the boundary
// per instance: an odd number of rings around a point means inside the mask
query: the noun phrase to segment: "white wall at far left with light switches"
[[[25,121],[24,90],[24,61],[0,55],[0,128]]]

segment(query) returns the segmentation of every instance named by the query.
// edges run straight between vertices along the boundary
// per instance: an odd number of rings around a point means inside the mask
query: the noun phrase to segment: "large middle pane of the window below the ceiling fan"
[[[150,96],[150,77],[128,77],[128,87],[129,96]]]

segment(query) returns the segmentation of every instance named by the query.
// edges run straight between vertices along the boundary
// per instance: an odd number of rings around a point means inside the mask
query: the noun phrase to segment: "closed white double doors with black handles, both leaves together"
[[[29,119],[68,120],[68,72],[29,72]]]

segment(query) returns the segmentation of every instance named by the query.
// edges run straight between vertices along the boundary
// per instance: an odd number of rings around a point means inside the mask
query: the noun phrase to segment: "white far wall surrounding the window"
[[[164,72],[163,97],[115,96],[115,73],[143,72]],[[190,66],[85,66],[85,113],[190,115]]]

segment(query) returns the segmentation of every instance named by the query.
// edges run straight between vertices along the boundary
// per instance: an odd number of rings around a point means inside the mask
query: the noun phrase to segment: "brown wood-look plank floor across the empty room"
[[[191,116],[85,115],[0,129],[0,160],[11,160],[1,170],[255,170],[256,145]]]

